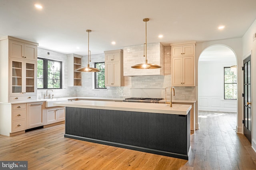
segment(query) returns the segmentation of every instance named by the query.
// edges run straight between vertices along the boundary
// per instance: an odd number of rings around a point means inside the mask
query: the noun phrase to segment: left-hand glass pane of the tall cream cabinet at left
[[[22,62],[12,61],[12,93],[22,92]]]

